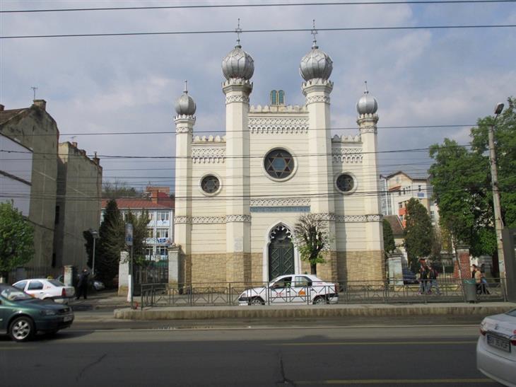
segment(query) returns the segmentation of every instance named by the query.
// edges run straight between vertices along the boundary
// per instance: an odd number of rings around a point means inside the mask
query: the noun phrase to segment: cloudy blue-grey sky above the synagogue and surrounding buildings
[[[274,3],[278,1],[0,0],[0,11]],[[286,103],[303,105],[299,63],[312,45],[313,19],[319,29],[516,25],[514,1],[311,3],[318,4],[0,13],[0,36],[234,31],[240,18],[242,48],[254,58],[251,105],[269,103],[273,89],[285,91]],[[245,32],[280,29],[307,30]],[[31,87],[37,87],[36,98],[47,101],[60,141],[76,141],[90,156],[97,152],[105,181],[138,189],[149,184],[173,187],[175,100],[187,79],[189,95],[197,103],[194,134],[222,135],[221,61],[235,40],[235,33],[2,38],[0,103],[6,109],[28,107]],[[358,134],[356,102],[364,81],[377,98],[378,158],[385,175],[402,170],[414,178],[426,177],[428,150],[411,149],[427,149],[445,137],[468,144],[471,125],[492,114],[496,103],[516,96],[515,27],[319,30],[317,44],[334,62],[332,134]],[[142,156],[159,158],[135,158]]]

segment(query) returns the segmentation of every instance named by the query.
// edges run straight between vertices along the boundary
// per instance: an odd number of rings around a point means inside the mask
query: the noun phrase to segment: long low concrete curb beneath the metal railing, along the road
[[[113,315],[122,320],[208,320],[216,318],[334,318],[346,316],[387,317],[387,316],[488,316],[505,313],[516,304],[497,305],[346,305],[346,306],[233,306],[233,307],[189,307],[189,308],[130,308],[115,309]]]

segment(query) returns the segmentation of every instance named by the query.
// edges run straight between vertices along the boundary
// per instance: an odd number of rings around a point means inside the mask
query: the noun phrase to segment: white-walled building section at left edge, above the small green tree
[[[30,212],[33,151],[0,134],[0,202],[13,202],[24,216]]]

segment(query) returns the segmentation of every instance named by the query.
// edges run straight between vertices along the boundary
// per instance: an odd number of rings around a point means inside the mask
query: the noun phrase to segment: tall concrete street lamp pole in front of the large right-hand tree
[[[502,212],[500,211],[500,191],[498,190],[498,171],[496,168],[495,153],[495,124],[498,115],[503,110],[503,103],[497,103],[495,108],[495,117],[492,125],[489,127],[489,163],[491,164],[491,184],[493,185],[493,209],[495,212],[495,230],[496,230],[496,248],[498,249],[498,270],[500,277],[505,277],[505,260],[503,257],[503,241],[502,241]]]

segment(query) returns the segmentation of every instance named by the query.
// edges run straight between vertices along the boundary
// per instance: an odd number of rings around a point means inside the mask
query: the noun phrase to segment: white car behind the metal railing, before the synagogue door
[[[315,275],[281,275],[263,287],[242,291],[239,305],[265,304],[336,304],[338,285],[324,282]]]

